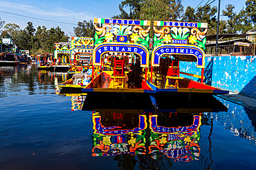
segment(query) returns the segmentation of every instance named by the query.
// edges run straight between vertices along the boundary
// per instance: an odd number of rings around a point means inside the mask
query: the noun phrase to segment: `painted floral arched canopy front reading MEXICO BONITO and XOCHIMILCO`
[[[204,67],[207,23],[154,21],[152,66],[160,65],[160,57],[170,54],[179,61],[197,62]]]

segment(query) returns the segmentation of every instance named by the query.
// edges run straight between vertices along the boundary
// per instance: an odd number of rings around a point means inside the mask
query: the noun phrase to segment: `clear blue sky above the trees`
[[[16,23],[24,29],[28,22],[32,22],[34,28],[45,25],[47,29],[59,26],[68,36],[74,36],[73,28],[80,21],[93,20],[94,18],[111,18],[120,14],[118,8],[122,0],[0,0],[0,19],[6,23]],[[184,11],[188,6],[196,8],[204,6],[209,0],[183,0]],[[210,0],[211,2],[212,0]],[[211,5],[218,6],[219,0]],[[245,8],[246,0],[221,0],[221,11],[232,3],[235,12]],[[6,13],[8,12],[8,13]],[[11,13],[11,14],[10,14]],[[21,17],[26,16],[26,17]],[[32,18],[27,18],[32,17]],[[37,19],[35,19],[37,18]],[[51,20],[42,21],[38,19]],[[221,17],[221,19],[225,19]]]

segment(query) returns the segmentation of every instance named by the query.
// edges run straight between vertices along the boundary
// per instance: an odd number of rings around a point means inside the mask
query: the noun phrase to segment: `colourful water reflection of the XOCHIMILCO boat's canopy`
[[[152,158],[167,156],[175,162],[198,160],[201,114],[163,113],[149,116]]]

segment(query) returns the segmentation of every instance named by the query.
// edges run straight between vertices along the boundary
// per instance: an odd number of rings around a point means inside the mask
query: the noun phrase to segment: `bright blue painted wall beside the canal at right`
[[[180,62],[180,71],[201,75],[195,62]],[[208,85],[256,98],[256,56],[206,56],[204,76]]]

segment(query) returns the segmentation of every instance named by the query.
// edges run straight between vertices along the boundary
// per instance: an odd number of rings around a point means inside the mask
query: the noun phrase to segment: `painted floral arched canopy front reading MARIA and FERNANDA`
[[[118,53],[117,56],[136,54],[141,67],[148,67],[150,24],[144,20],[95,18],[93,65],[100,65],[104,54]]]

